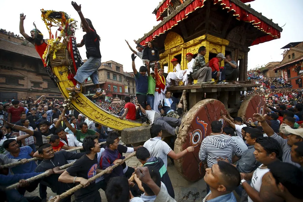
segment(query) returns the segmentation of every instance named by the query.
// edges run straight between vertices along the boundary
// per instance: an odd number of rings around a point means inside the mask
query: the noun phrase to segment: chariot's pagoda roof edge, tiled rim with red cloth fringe
[[[163,0],[160,4],[165,5],[170,3],[171,0]],[[141,45],[146,45],[148,41],[152,41],[167,30],[178,25],[178,22],[184,20],[198,8],[204,6],[205,1],[213,1],[213,4],[218,4],[222,9],[227,9],[227,12],[233,12],[233,15],[239,21],[249,22],[258,30],[266,33],[265,36],[261,36],[255,39],[251,45],[256,45],[266,41],[271,41],[281,37],[282,28],[275,24],[270,19],[261,15],[254,9],[245,5],[240,0],[187,0],[181,4],[175,11],[165,17],[162,22],[155,26],[151,31],[145,34],[141,39],[138,40]],[[160,8],[160,7],[159,7]],[[164,11],[162,11],[164,12]]]

